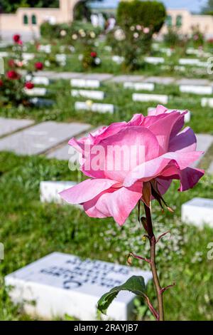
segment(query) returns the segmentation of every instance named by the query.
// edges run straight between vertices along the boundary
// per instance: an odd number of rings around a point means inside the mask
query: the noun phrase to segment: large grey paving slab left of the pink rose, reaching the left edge
[[[53,121],[39,123],[2,138],[0,151],[13,151],[19,155],[38,155],[89,128],[90,125],[85,123],[57,123]]]

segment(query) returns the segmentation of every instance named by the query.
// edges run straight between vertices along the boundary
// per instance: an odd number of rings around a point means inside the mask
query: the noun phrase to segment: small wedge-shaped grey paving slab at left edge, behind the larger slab
[[[33,120],[18,120],[15,118],[0,118],[0,138],[4,135],[14,133],[17,130],[33,125]]]

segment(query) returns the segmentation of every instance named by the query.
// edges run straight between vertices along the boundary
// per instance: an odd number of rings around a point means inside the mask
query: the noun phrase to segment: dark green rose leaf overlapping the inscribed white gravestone
[[[111,302],[117,297],[120,291],[130,291],[136,295],[145,296],[146,286],[143,277],[141,276],[133,276],[129,278],[126,283],[122,284],[121,286],[114,287],[108,293],[105,293],[101,299],[98,301],[97,308],[103,314],[107,314],[107,309]]]

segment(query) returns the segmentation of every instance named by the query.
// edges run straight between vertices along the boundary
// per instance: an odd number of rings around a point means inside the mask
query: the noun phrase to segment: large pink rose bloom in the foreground
[[[146,117],[136,114],[128,123],[72,138],[69,144],[80,152],[81,170],[90,179],[61,192],[61,197],[83,205],[89,217],[114,217],[123,225],[138,200],[150,206],[172,180],[180,180],[181,192],[194,187],[204,171],[190,166],[202,152],[196,151],[193,130],[182,130],[185,113],[167,113],[158,105]],[[124,151],[118,155],[118,149]]]

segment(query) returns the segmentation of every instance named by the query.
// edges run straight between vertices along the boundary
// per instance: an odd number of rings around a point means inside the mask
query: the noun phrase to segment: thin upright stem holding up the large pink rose
[[[159,314],[159,321],[164,321],[164,311],[163,311],[163,291],[160,287],[160,281],[158,278],[158,272],[155,263],[155,246],[156,246],[156,239],[155,234],[153,232],[153,223],[151,218],[151,210],[150,208],[144,203],[144,208],[146,212],[146,221],[147,221],[147,232],[149,237],[149,242],[151,246],[151,271],[153,274],[153,282],[155,285],[156,294],[158,297],[158,314]]]

